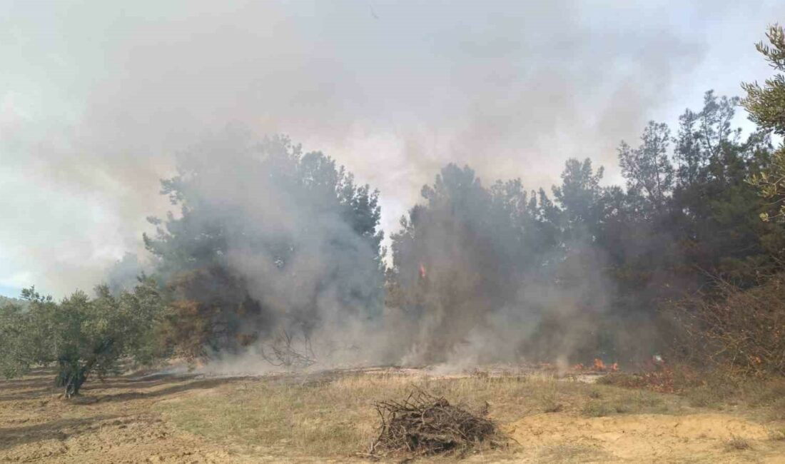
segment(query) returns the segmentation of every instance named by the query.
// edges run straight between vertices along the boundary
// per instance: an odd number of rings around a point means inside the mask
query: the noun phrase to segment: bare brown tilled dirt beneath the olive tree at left
[[[66,401],[39,371],[0,382],[0,462],[229,462],[221,446],[177,430],[152,409],[230,379],[109,378]]]

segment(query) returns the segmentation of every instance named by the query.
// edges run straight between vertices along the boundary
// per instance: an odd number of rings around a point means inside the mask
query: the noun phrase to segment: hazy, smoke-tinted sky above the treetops
[[[0,0],[0,294],[144,257],[159,179],[228,126],[337,159],[388,235],[449,162],[547,188],[590,157],[619,182],[648,120],[771,74],[754,43],[777,21],[757,0]]]

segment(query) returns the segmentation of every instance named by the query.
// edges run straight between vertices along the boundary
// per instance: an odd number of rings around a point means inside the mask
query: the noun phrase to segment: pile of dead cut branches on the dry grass
[[[490,419],[422,390],[410,393],[406,400],[381,401],[375,406],[382,425],[369,450],[374,456],[465,454],[476,444],[498,443],[496,426]]]

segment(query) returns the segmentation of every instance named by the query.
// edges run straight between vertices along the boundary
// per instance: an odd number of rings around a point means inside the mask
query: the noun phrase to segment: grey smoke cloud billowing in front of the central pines
[[[300,355],[316,368],[454,370],[521,360],[566,364],[597,353],[596,332],[615,289],[590,271],[603,268],[605,257],[585,234],[549,248],[538,210],[517,184],[488,189],[470,170],[445,168],[424,189],[428,206],[412,212],[412,228],[394,238],[396,276],[382,309],[375,242],[332,198],[329,173],[311,170],[313,154],[293,162],[277,140],[258,144],[229,131],[178,157],[173,185],[185,213],[170,219],[173,232],[161,232],[162,246],[155,245],[162,269],[209,274],[195,283],[186,277],[182,300],[222,308],[228,316],[213,327],[239,320],[228,338],[214,338],[225,345],[210,344],[206,371],[257,373],[289,367],[283,359]],[[167,253],[167,244],[177,252]],[[193,254],[184,260],[182,250]],[[258,306],[243,302],[235,310],[243,292]],[[237,334],[250,342],[238,347]],[[284,356],[271,356],[276,347]]]

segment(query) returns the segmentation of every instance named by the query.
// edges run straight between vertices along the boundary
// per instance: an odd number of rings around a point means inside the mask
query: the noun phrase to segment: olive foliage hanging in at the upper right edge
[[[764,85],[758,82],[744,83],[747,97],[742,104],[750,113],[750,119],[763,130],[785,137],[785,31],[777,24],[769,27],[766,34],[769,45],[759,42],[755,48],[763,56],[776,74],[766,79]],[[761,219],[769,221],[776,217],[785,218],[785,145],[772,155],[771,166],[759,175],[750,177],[750,183],[758,186],[760,194],[777,206],[776,214],[761,213]]]

